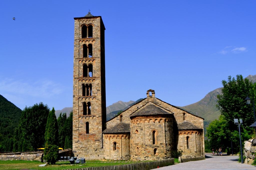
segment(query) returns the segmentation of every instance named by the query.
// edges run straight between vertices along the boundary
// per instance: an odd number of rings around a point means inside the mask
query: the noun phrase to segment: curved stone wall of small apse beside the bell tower
[[[116,150],[113,143],[116,142]],[[130,159],[130,135],[129,134],[105,134],[104,157],[107,160]]]

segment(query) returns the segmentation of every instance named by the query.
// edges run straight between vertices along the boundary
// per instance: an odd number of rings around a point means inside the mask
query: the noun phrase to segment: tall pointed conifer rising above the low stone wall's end
[[[55,110],[52,110],[49,113],[46,129],[45,129],[45,149],[44,149],[44,159],[46,162],[55,164],[58,159],[58,122],[55,115]]]

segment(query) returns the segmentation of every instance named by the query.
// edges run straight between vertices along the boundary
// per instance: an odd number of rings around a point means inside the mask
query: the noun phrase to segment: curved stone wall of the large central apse
[[[156,140],[153,144],[152,131]],[[162,160],[170,157],[173,146],[172,118],[162,116],[135,117],[131,124],[131,159]],[[154,155],[154,149],[156,154]]]

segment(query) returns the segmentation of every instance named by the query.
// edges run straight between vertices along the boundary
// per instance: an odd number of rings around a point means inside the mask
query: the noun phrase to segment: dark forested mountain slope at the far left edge
[[[21,112],[20,108],[0,95],[0,144],[5,139],[13,137]]]

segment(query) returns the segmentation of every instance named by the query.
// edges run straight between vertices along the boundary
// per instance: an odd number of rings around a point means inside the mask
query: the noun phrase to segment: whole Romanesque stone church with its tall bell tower
[[[204,119],[156,98],[152,89],[106,122],[104,23],[90,12],[74,21],[74,155],[145,161],[179,150],[183,158],[204,156]]]

